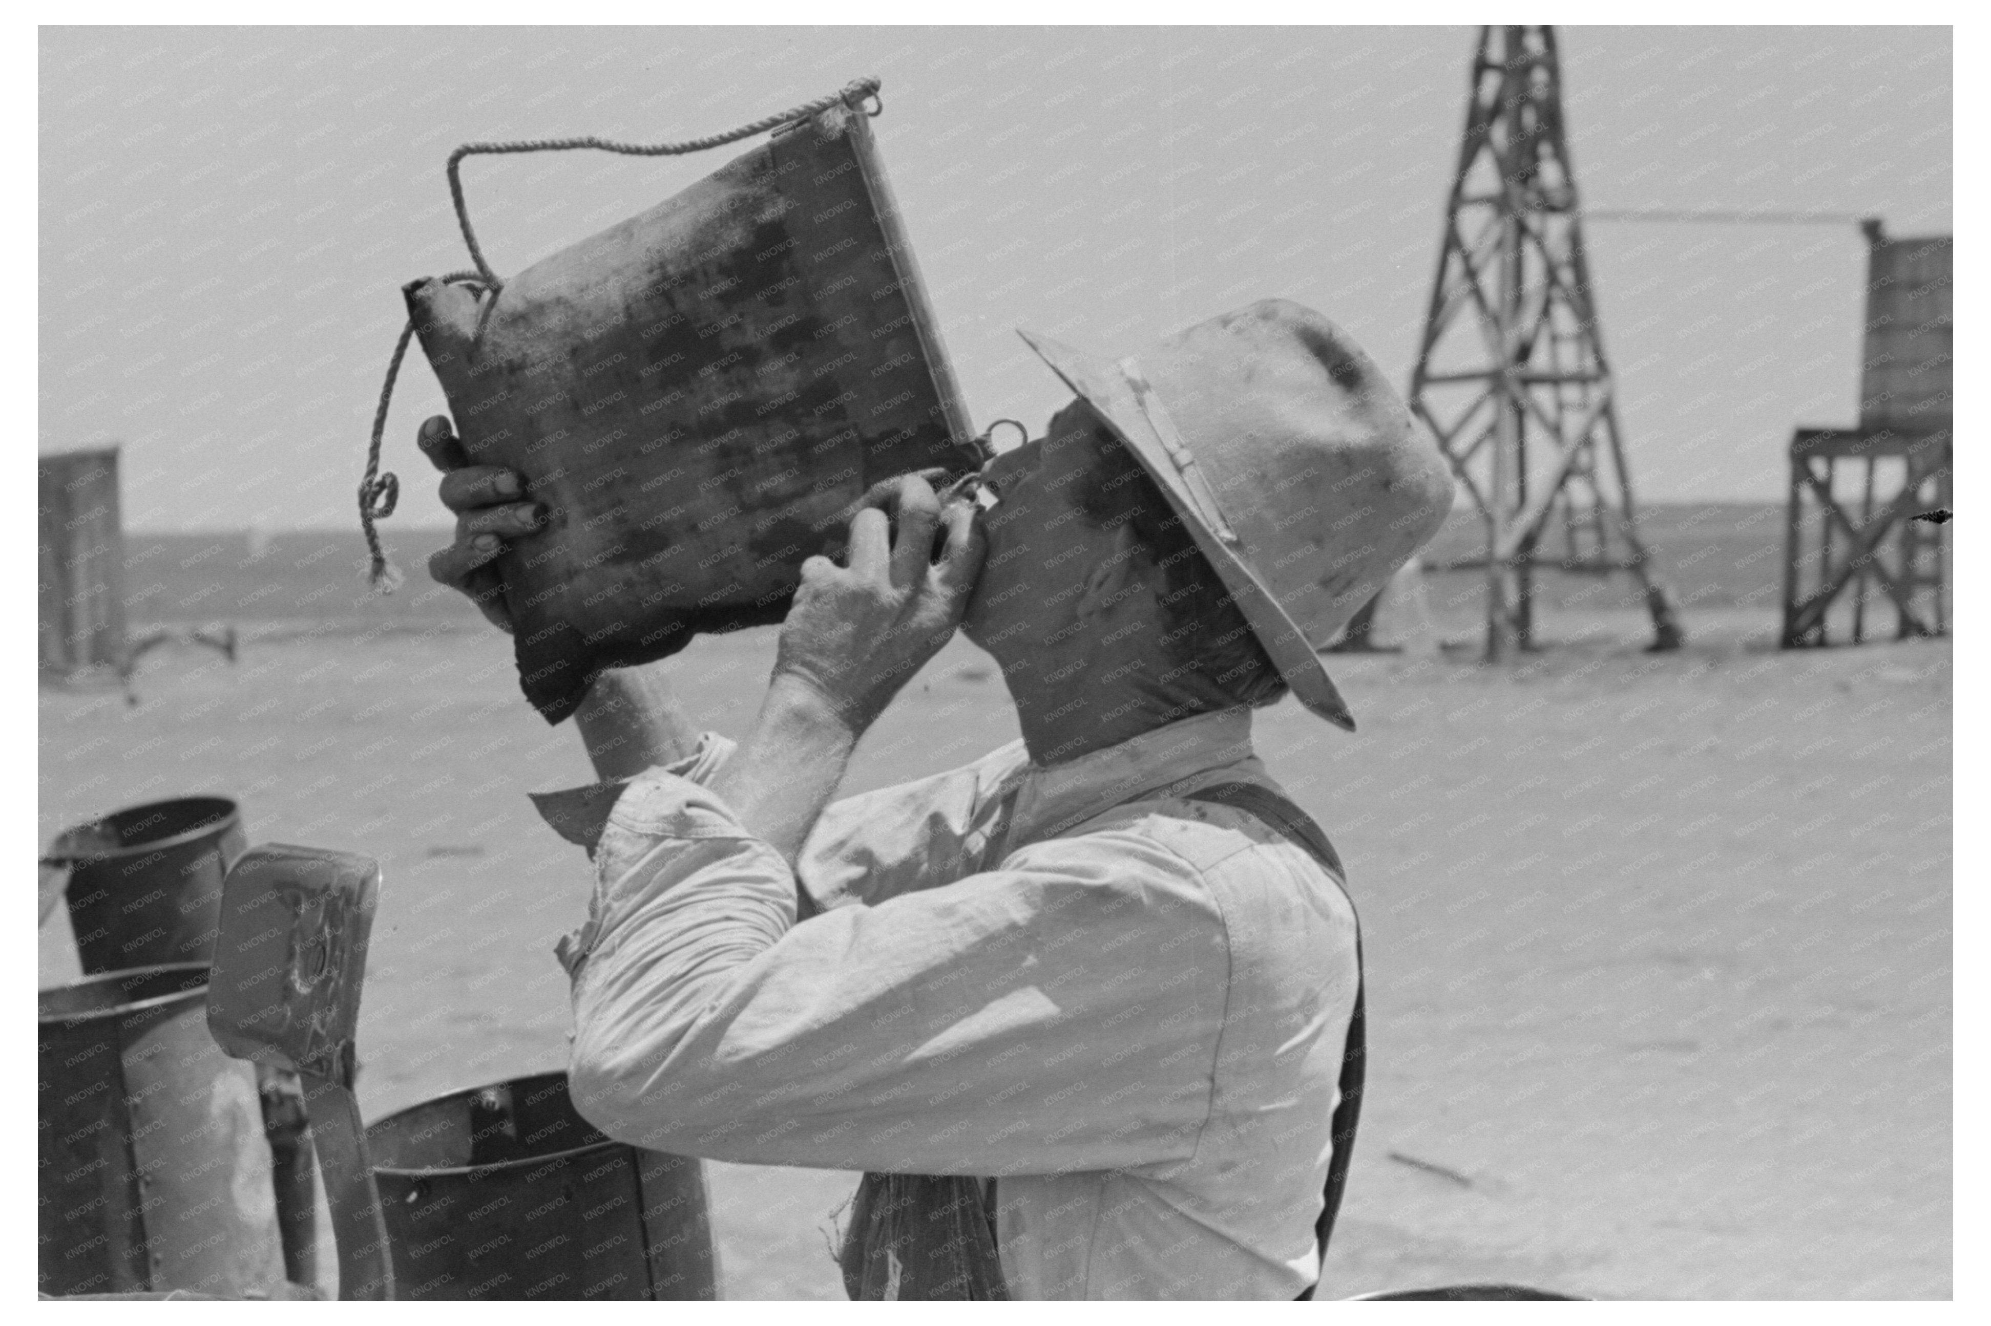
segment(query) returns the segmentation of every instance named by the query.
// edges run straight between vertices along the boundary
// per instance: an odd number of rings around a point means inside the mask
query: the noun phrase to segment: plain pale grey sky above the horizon
[[[1563,28],[1591,209],[1951,229],[1945,28]],[[1469,28],[42,28],[38,446],[121,444],[135,532],[352,528],[400,287],[466,267],[478,139],[717,133],[884,80],[872,121],[976,426],[1063,404],[1013,334],[1109,354],[1264,297],[1408,386]],[[745,147],[480,157],[516,273]],[[1587,229],[1643,500],[1774,500],[1798,424],[1852,424],[1852,225]],[[414,428],[394,528],[446,522]]]

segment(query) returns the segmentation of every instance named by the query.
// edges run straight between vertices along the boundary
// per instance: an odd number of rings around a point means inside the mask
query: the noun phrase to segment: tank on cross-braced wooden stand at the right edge
[[[1786,649],[1949,633],[1951,237],[1868,237],[1858,428],[1790,440]],[[1931,512],[1941,516],[1921,518]]]

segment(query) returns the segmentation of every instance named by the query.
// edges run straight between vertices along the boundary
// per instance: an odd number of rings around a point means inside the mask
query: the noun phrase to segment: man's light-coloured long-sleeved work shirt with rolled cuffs
[[[997,1177],[1015,1298],[1314,1282],[1356,924],[1302,848],[1183,798],[1272,786],[1250,711],[840,800],[802,924],[788,864],[703,786],[731,749],[536,798],[595,856],[559,944],[589,1121],[751,1165]]]

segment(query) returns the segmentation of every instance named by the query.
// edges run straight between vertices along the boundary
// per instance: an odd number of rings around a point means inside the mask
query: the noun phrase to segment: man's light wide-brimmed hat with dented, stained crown
[[[1284,299],[1117,362],[1019,334],[1155,480],[1294,697],[1354,731],[1318,651],[1438,534],[1453,494],[1362,346]]]

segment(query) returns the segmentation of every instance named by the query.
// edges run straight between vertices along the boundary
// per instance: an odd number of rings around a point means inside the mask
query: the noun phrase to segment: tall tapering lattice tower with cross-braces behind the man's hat
[[[1533,571],[1631,571],[1653,647],[1682,641],[1639,540],[1583,253],[1553,28],[1483,28],[1410,408],[1487,530],[1487,657],[1533,643]]]

